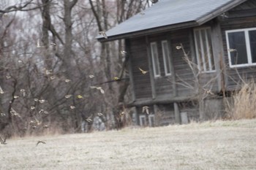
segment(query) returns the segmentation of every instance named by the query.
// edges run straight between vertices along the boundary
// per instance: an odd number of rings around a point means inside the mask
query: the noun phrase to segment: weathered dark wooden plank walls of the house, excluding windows
[[[236,69],[230,68],[225,36],[225,31],[230,29],[256,27],[256,1],[246,1],[240,6],[231,9],[227,12],[227,15],[230,17],[215,18],[214,20],[203,24],[203,26],[200,26],[211,27],[214,45],[214,61],[217,70],[216,72],[202,73],[198,78],[201,85],[205,85],[217,77],[216,80],[212,81],[209,86],[206,87],[206,89],[210,88],[212,92],[216,93],[220,92],[222,88],[224,88],[223,90],[234,90],[237,88],[238,83],[241,82],[241,77],[245,80],[251,78],[256,80],[256,66]],[[199,120],[198,104],[194,104],[194,101],[181,101],[181,97],[187,98],[188,100],[190,96],[195,95],[195,89],[197,88],[188,88],[186,85],[182,85],[188,83],[189,86],[195,87],[195,75],[192,74],[191,68],[187,62],[184,61],[183,51],[176,49],[177,46],[182,44],[185,52],[189,54],[189,60],[196,63],[193,28],[141,36],[128,40],[135,100],[152,101],[148,102],[148,106],[151,108],[150,112],[154,112],[155,118],[158,119],[156,122],[158,121],[159,125],[176,123],[175,108],[173,107],[173,102],[176,102],[176,98],[179,98],[177,101],[179,112],[187,112],[189,121]],[[161,46],[162,40],[167,40],[170,45],[171,65],[173,66],[172,74],[170,76],[165,76]],[[157,42],[158,45],[159,64],[161,68],[160,77],[154,77],[152,72],[151,42]],[[148,74],[142,74],[138,69],[139,67],[150,72],[148,72]],[[173,101],[167,103],[167,100],[165,99],[168,98],[173,99]],[[165,102],[161,102],[161,99]],[[211,106],[211,103],[212,101],[208,101],[206,105],[208,104]],[[215,103],[216,106],[221,105],[221,101],[216,101]],[[138,106],[138,115],[145,114],[141,112],[143,102]],[[208,108],[212,109],[211,107]],[[217,110],[217,112],[219,112],[219,110]],[[214,115],[216,114],[214,113]],[[210,117],[214,117],[214,115],[210,115]]]

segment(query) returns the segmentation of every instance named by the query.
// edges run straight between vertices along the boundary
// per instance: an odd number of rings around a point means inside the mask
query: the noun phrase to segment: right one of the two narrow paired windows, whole
[[[162,41],[162,57],[164,58],[164,65],[165,65],[165,75],[170,75],[170,52],[168,47],[168,42]]]

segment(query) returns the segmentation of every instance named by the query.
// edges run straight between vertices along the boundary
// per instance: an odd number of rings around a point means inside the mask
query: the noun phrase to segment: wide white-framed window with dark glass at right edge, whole
[[[230,67],[256,65],[256,28],[226,31]]]

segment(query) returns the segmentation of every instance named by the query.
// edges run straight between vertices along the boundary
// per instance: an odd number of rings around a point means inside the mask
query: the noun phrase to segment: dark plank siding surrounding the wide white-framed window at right
[[[227,90],[236,90],[241,84],[241,78],[244,80],[256,80],[256,66],[245,66],[242,68],[230,68],[227,57],[227,40],[225,31],[240,29],[240,28],[256,28],[256,17],[255,14],[250,14],[251,10],[254,9],[256,12],[256,1],[246,1],[240,6],[230,10],[230,18],[222,20],[222,39],[225,53],[225,65],[226,65],[226,78],[227,78]],[[246,17],[241,17],[241,13],[246,14]],[[254,15],[249,17],[249,15]],[[244,15],[243,15],[244,16]]]

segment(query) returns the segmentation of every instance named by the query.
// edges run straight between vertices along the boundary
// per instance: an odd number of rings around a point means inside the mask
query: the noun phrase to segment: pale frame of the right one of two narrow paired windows
[[[165,54],[164,43],[166,43],[167,54]],[[171,61],[170,61],[169,43],[167,40],[162,40],[161,45],[162,45],[162,58],[164,59],[165,76],[170,76],[172,74],[172,66],[171,66]],[[170,72],[167,72],[167,67],[169,67]]]

